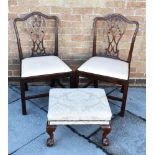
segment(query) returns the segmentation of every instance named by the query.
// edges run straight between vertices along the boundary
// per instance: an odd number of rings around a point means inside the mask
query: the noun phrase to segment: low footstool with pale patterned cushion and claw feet
[[[99,124],[103,130],[102,144],[109,145],[112,113],[104,89],[54,88],[49,91],[47,146],[54,144],[57,125]]]

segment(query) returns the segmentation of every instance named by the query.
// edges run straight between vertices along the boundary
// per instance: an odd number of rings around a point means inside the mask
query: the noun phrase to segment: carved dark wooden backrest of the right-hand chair
[[[132,37],[131,37],[132,39],[129,47],[128,56],[127,56],[127,59],[124,60],[130,63],[136,35],[139,29],[139,23],[137,21],[128,20],[121,14],[110,14],[105,17],[96,17],[93,23],[93,56],[97,55],[96,40],[97,40],[97,22],[98,21],[103,22],[104,35],[107,39],[107,45],[104,49],[105,51],[103,56],[111,57],[115,59],[121,59],[119,57],[118,45],[123,35],[126,32],[127,25],[133,26],[132,31],[134,31],[134,33],[132,34]],[[131,35],[131,34],[128,34],[128,35]]]

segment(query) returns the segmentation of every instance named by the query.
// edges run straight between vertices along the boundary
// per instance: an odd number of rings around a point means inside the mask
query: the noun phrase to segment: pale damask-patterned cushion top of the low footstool
[[[104,89],[54,88],[49,92],[48,121],[110,121],[112,113]],[[81,123],[82,124],[82,123]]]

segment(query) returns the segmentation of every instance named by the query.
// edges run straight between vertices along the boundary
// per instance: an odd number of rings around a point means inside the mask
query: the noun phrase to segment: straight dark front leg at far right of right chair
[[[122,100],[122,106],[121,106],[121,112],[120,112],[121,117],[124,117],[124,114],[125,114],[127,94],[128,94],[128,83],[123,85],[123,100]]]

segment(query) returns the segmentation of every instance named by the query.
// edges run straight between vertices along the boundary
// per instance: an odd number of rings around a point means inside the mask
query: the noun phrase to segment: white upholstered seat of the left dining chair
[[[22,60],[22,77],[71,72],[57,56],[30,57]]]

